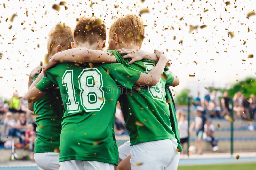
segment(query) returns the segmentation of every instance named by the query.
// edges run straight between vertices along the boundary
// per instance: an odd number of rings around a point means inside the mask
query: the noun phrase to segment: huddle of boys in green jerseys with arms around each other
[[[179,79],[166,67],[166,54],[140,50],[143,37],[142,19],[131,14],[112,23],[107,51],[99,18],[80,18],[74,32],[52,28],[48,63],[32,70],[28,82],[39,168],[177,169],[182,148],[169,86]],[[130,136],[119,148],[117,101]]]

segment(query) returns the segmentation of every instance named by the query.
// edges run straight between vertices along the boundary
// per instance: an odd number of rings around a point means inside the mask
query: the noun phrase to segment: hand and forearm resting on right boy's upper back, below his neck
[[[148,59],[151,61],[158,62],[159,58],[157,57],[156,53],[151,53],[143,50],[134,50],[134,49],[125,49],[121,48],[116,50],[120,54],[127,54],[123,56],[124,59],[131,58],[132,60],[128,62],[128,64],[132,64],[135,61],[140,61],[142,59]]]

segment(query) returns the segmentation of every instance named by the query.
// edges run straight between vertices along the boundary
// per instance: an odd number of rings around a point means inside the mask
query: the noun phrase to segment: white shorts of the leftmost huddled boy
[[[39,169],[59,170],[59,153],[34,153],[34,159]]]

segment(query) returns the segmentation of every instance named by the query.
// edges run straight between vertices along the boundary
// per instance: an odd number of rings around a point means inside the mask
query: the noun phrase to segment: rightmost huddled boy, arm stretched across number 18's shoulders
[[[132,60],[129,60],[129,64],[131,64],[134,61],[140,60],[141,56],[138,53],[134,54],[135,53],[134,51],[140,49],[142,44],[142,40],[138,39],[138,37],[144,36],[144,28],[143,28],[142,20],[134,15],[126,15],[124,18],[121,18],[118,21],[115,21],[114,24],[111,26],[111,28],[112,29],[110,30],[110,37],[112,39],[110,39],[109,41],[109,48],[110,49],[132,48],[132,50],[130,51],[128,49],[121,49],[123,53],[129,54],[124,56],[124,58],[128,58],[128,57],[132,58]],[[124,60],[119,53],[117,53],[114,50],[109,50],[109,52],[113,53],[116,56],[116,58],[120,59],[118,62],[122,62],[124,65],[127,65],[126,61],[128,62],[128,60]],[[61,61],[61,60],[70,61],[70,62],[74,62],[74,61],[83,62],[87,57],[90,56],[90,53],[94,53],[94,52],[87,49],[83,49],[83,48],[79,48],[79,50],[71,49],[62,53],[57,53],[55,56],[53,56],[53,58],[51,59],[51,62],[49,62],[48,67],[52,67],[54,64],[57,63],[57,61]],[[101,52],[99,52],[99,54],[100,54],[99,60],[100,58],[106,57],[105,55],[109,55],[108,53],[101,53]],[[71,55],[73,57],[65,57],[65,56],[71,56]],[[152,53],[143,53],[143,56],[145,55],[150,60],[153,60],[153,61],[158,60],[156,55]],[[159,55],[162,55],[162,54],[159,53]],[[135,63],[132,64],[131,67],[140,71],[149,72],[152,68],[154,68],[154,65],[155,65],[154,62],[149,60],[144,60],[144,62],[138,62],[136,64]],[[148,79],[148,81],[149,83],[151,82],[150,79]],[[140,166],[139,168],[147,169],[148,167],[151,167],[151,168],[157,169],[157,168],[161,168],[162,166],[166,166],[166,167],[169,167],[169,169],[170,168],[173,169],[173,167],[177,169],[177,165],[179,161],[179,152],[176,151],[176,148],[179,150],[182,150],[182,148],[179,142],[180,141],[179,132],[177,131],[178,127],[177,127],[177,120],[175,116],[175,108],[173,103],[170,104],[171,94],[169,93],[165,94],[166,93],[165,90],[170,91],[168,90],[169,85],[176,86],[178,84],[179,84],[179,81],[177,77],[173,77],[172,74],[165,72],[164,76],[160,79],[159,82],[157,82],[157,85],[155,87],[138,88],[139,90],[134,91],[132,95],[121,97],[121,102],[123,101],[122,109],[125,114],[124,117],[126,119],[126,126],[128,130],[130,130],[130,139],[132,141],[132,145],[136,145],[138,143],[147,144],[146,142],[150,142],[150,141],[163,142],[160,140],[175,139],[175,138],[177,139],[179,144],[179,145],[177,144],[176,140],[164,141],[165,142],[164,144],[167,143],[166,145],[169,145],[170,142],[172,142],[172,145],[175,146],[174,149],[170,148],[169,146],[164,146],[160,148],[163,150],[165,150],[165,148],[173,149],[172,151],[166,150],[166,151],[172,152],[169,154],[171,156],[170,158],[166,157],[169,161],[167,160],[166,162],[163,162],[164,164],[167,164],[167,165],[163,165],[161,164],[161,162],[156,164],[154,161],[150,161],[150,159],[152,158],[149,158],[149,157],[151,157],[152,154],[151,155],[148,154],[148,155],[142,156],[145,158],[144,166],[143,167]],[[142,103],[143,101],[145,101],[144,105]],[[144,114],[141,114],[141,113],[144,113]],[[161,114],[164,114],[164,116]],[[148,120],[145,118],[147,118]],[[161,158],[157,157],[157,159],[161,159]],[[137,160],[135,159],[135,161]],[[151,162],[154,165],[151,165],[150,164]]]

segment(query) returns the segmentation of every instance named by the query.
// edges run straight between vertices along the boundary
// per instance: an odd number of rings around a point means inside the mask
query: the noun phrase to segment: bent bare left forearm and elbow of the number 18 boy
[[[36,80],[31,84],[31,86],[28,88],[27,92],[27,100],[28,103],[34,103],[37,100],[39,100],[46,92],[42,92],[39,89],[36,88],[36,84],[43,78],[44,74],[41,72]]]

